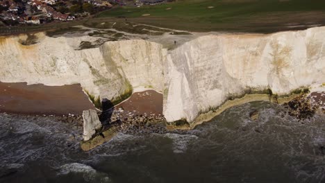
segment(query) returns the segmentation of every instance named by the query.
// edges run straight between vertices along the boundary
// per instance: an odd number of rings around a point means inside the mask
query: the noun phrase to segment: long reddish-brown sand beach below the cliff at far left
[[[0,82],[0,112],[80,115],[88,109],[94,109],[94,105],[79,84],[49,87]]]

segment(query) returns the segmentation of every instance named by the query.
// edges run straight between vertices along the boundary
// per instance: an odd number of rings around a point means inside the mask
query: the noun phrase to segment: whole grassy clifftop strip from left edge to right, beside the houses
[[[94,17],[56,24],[0,26],[0,35],[60,30],[79,25],[106,28],[115,23],[128,23],[119,27],[125,32],[133,30],[131,26],[134,24],[147,24],[194,32],[275,33],[325,26],[324,17],[324,0],[175,0],[154,6],[116,5]],[[144,30],[147,28],[140,32]]]

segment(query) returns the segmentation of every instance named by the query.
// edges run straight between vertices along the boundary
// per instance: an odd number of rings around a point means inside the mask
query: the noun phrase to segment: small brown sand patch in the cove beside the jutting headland
[[[163,116],[163,94],[154,90],[135,92],[127,101],[115,106],[115,110],[123,108],[124,114]]]

